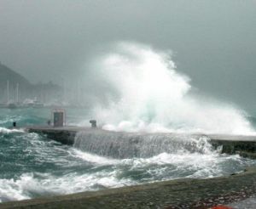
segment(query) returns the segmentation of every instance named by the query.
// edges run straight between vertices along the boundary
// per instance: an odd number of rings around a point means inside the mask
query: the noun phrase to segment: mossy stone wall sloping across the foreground
[[[256,193],[256,170],[208,179],[178,179],[0,204],[0,208],[209,208]]]

